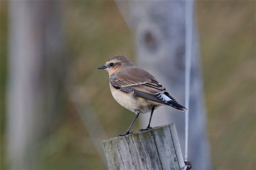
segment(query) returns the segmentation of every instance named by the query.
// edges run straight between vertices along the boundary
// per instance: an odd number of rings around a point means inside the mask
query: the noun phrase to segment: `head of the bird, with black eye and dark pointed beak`
[[[124,55],[115,55],[108,59],[106,64],[98,67],[97,69],[104,69],[108,71],[108,74],[111,75],[119,70],[122,70],[126,67],[134,66],[133,63]]]

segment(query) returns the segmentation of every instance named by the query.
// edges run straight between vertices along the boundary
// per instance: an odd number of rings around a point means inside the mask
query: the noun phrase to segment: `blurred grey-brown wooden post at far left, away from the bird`
[[[38,142],[56,122],[56,70],[63,58],[60,7],[57,1],[9,2],[6,152],[11,169],[36,169]]]

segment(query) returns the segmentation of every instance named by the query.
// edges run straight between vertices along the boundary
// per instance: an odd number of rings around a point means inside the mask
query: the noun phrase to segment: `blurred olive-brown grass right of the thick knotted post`
[[[255,169],[255,1],[198,1],[213,167]]]

